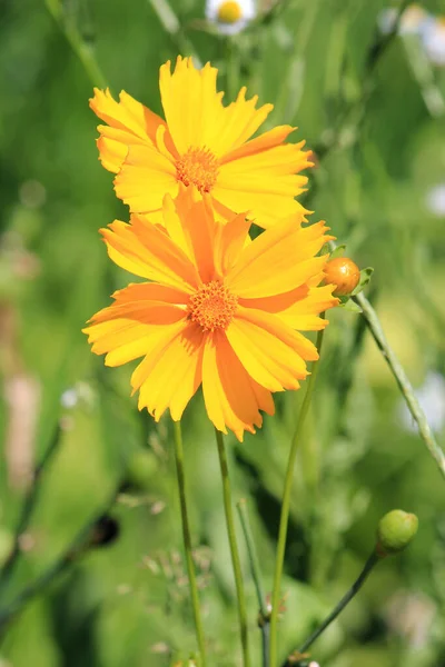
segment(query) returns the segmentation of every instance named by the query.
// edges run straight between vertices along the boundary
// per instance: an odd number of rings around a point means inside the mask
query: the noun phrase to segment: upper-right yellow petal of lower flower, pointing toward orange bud
[[[326,229],[324,222],[301,228],[291,217],[267,229],[243,249],[227,275],[227,287],[238,297],[257,298],[303,285],[326,263],[327,256],[314,257],[332,238]]]

